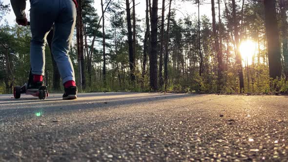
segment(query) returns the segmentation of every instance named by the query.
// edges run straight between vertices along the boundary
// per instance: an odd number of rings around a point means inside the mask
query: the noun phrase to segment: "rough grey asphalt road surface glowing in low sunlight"
[[[288,162],[287,96],[0,95],[0,162]]]

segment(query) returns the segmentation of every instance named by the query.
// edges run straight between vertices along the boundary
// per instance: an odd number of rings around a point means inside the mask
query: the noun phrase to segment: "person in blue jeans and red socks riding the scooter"
[[[25,8],[26,0],[11,0],[11,5],[19,25],[28,25]],[[63,100],[77,98],[77,86],[69,47],[76,22],[76,0],[30,0],[30,28],[32,33],[30,63],[32,78],[28,81],[27,91],[37,91],[44,86],[46,37],[52,25],[55,33],[52,41],[52,54],[57,63],[64,85]]]

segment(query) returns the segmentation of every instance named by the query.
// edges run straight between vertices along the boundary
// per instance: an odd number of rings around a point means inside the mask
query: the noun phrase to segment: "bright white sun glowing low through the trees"
[[[243,66],[247,64],[251,65],[252,59],[257,52],[257,43],[251,40],[243,41],[240,44],[239,50],[242,57]]]

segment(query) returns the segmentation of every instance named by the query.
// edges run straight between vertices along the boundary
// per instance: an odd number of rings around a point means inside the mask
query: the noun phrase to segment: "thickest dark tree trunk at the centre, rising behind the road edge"
[[[158,0],[152,1],[151,15],[151,48],[149,55],[150,65],[150,88],[157,91],[157,24],[158,24]]]

